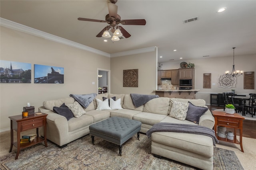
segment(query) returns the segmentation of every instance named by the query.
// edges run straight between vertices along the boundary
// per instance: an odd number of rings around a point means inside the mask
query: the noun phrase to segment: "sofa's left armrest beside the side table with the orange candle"
[[[44,109],[43,106],[38,108],[39,112],[48,114],[46,117],[46,137],[59,146],[68,143],[68,120],[66,117],[54,113],[51,110]],[[44,136],[43,129],[40,128],[39,134]]]

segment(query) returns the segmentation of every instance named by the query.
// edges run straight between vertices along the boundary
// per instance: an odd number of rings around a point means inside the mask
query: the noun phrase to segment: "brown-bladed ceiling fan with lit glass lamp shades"
[[[113,33],[112,41],[120,40],[119,37],[124,36],[125,38],[129,38],[131,35],[118,24],[122,25],[146,25],[146,20],[144,19],[136,19],[136,20],[121,20],[121,17],[117,14],[116,2],[117,0],[110,0],[111,3],[108,3],[108,14],[106,15],[106,20],[94,20],[88,18],[78,18],[80,21],[92,21],[92,22],[104,22],[108,23],[106,27],[104,27],[96,37],[105,37],[109,38],[111,35],[108,30],[111,28],[111,32]]]

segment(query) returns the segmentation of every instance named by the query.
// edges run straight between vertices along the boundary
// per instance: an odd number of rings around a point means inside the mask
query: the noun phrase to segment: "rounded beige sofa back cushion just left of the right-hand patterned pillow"
[[[144,104],[144,112],[168,115],[170,113],[170,98],[154,98]]]

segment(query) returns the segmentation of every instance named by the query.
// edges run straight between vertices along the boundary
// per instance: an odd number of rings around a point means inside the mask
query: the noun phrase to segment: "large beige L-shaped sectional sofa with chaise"
[[[97,99],[104,98],[120,99],[121,109],[97,109]],[[65,147],[68,143],[89,134],[89,126],[109,117],[118,116],[134,119],[142,122],[141,131],[146,133],[156,123],[180,123],[188,125],[200,125],[212,129],[214,117],[208,109],[200,116],[198,124],[184,120],[181,121],[170,117],[174,102],[190,102],[194,106],[206,107],[202,99],[180,99],[180,98],[154,98],[140,107],[135,107],[130,95],[126,94],[98,94],[88,107],[83,108],[86,113],[76,118],[67,120],[66,117],[54,113],[53,107],[60,107],[63,103],[73,104],[74,98],[68,97],[58,100],[43,102],[38,111],[47,113],[47,139],[56,143],[59,147]],[[39,130],[41,136],[43,129]],[[213,140],[205,135],[177,133],[177,132],[154,132],[151,137],[151,152],[154,156],[170,158],[200,169],[213,169]],[[150,140],[149,139],[149,140]]]

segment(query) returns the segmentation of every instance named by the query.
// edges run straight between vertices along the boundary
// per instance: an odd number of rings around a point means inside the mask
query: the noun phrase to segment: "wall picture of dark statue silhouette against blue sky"
[[[64,68],[35,64],[34,83],[64,84]]]

